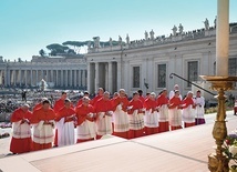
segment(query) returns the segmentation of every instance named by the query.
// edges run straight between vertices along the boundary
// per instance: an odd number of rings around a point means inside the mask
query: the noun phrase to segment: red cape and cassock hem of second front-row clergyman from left
[[[49,108],[48,110],[44,110],[42,107],[42,108],[40,108],[33,112],[31,123],[32,124],[39,124],[39,122],[41,122],[41,121],[45,121],[45,122],[47,121],[54,121],[54,119],[55,119],[55,112],[53,111],[53,109]],[[50,142],[50,143],[48,143],[48,142],[47,143],[38,143],[38,142],[34,142],[34,136],[38,136],[38,135],[35,135],[33,133],[33,150],[34,151],[52,148],[52,142]],[[42,133],[41,136],[47,138],[48,135],[47,135],[47,133]],[[40,138],[40,139],[42,140],[42,138]]]

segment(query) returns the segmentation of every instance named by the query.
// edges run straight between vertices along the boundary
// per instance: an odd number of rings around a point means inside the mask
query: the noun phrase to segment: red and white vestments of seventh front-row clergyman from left
[[[128,107],[133,107],[127,111],[130,119],[128,139],[140,138],[144,135],[144,117],[143,102],[138,100],[131,100]],[[136,114],[135,114],[136,113]]]

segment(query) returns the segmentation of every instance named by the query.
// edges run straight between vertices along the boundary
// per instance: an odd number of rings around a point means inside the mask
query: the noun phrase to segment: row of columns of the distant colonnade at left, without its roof
[[[1,85],[39,85],[43,79],[51,87],[86,87],[86,69],[0,69]]]

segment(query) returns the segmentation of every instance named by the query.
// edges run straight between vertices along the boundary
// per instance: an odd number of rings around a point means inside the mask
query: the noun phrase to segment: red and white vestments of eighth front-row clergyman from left
[[[146,111],[151,110],[151,113],[154,115],[154,119],[157,119],[157,117],[156,117],[157,103],[155,100],[146,99],[143,107],[146,109]],[[146,121],[148,121],[147,114],[145,114],[144,119],[145,119],[145,134],[146,135],[155,134],[155,133],[159,132],[158,127],[155,127],[155,128],[147,127],[147,124],[146,124]],[[158,119],[157,119],[157,121],[150,121],[150,122],[158,123]]]

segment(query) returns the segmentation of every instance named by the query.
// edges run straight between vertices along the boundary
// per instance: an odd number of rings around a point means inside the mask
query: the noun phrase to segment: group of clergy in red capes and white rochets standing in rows
[[[124,89],[111,98],[99,88],[93,99],[85,91],[75,105],[63,91],[53,104],[42,98],[34,107],[25,103],[14,110],[10,151],[16,154],[71,145],[106,134],[134,139],[194,127],[205,123],[204,105],[199,90],[183,99],[177,84],[169,94],[164,89],[157,97],[155,92],[143,97],[138,90],[131,100]]]

